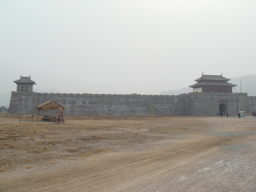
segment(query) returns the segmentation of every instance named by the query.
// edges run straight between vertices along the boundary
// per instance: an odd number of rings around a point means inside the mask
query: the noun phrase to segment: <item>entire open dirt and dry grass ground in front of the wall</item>
[[[255,192],[254,117],[0,117],[1,192]]]

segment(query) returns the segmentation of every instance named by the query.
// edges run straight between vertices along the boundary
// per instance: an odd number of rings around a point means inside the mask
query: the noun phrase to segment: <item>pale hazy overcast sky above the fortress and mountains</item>
[[[154,95],[202,72],[256,74],[255,0],[0,0],[0,94],[31,75],[34,89]]]

